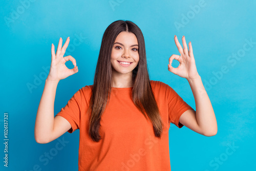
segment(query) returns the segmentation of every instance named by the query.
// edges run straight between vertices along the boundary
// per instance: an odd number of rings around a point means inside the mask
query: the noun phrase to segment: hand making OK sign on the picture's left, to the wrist
[[[47,77],[47,80],[51,81],[59,81],[61,79],[65,79],[70,75],[73,75],[78,72],[78,68],[76,66],[76,60],[71,55],[63,57],[63,55],[66,52],[66,49],[69,45],[69,37],[67,38],[65,44],[62,46],[62,38],[59,39],[58,48],[55,55],[54,45],[52,44],[52,62],[51,62],[51,68],[49,75]],[[71,60],[74,68],[68,69],[65,65],[65,63]]]

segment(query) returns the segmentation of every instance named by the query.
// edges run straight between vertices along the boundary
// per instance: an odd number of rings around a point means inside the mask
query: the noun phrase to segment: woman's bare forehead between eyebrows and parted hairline
[[[138,40],[137,37],[134,33],[131,32],[126,32],[126,31],[122,31],[118,34],[118,36],[116,37],[116,41],[115,42],[120,42],[121,44],[126,44],[126,45],[130,45],[130,44],[138,44]]]

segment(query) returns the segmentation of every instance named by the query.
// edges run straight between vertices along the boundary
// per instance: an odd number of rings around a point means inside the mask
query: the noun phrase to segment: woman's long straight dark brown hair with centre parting
[[[147,70],[146,51],[143,34],[140,28],[129,20],[116,20],[106,28],[101,42],[98,62],[94,75],[92,96],[88,113],[91,114],[89,121],[89,136],[93,141],[99,142],[101,115],[110,99],[112,88],[111,53],[117,35],[122,32],[134,33],[138,40],[139,62],[133,70],[132,97],[136,107],[141,113],[151,120],[156,137],[161,137],[163,123],[159,109],[150,84]]]

